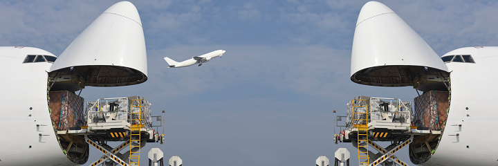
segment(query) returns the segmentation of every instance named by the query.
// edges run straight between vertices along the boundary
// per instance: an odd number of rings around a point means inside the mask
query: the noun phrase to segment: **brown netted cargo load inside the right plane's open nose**
[[[450,104],[448,91],[427,91],[416,97],[414,125],[431,130],[444,129]]]

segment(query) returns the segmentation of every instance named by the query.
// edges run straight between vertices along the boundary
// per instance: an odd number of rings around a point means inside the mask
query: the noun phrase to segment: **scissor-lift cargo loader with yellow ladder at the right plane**
[[[407,164],[394,155],[397,151],[412,143],[414,136],[441,134],[440,131],[419,130],[412,126],[412,106],[409,102],[394,98],[355,99],[352,107],[353,115],[349,117],[353,120],[353,127],[340,131],[334,140],[352,142],[358,149],[359,165],[384,165],[389,160],[405,166]],[[374,141],[390,141],[392,144],[381,147]],[[369,147],[378,151],[380,156],[369,155]]]

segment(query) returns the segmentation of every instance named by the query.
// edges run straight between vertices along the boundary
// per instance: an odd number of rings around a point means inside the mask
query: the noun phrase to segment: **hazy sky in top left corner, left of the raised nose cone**
[[[0,20],[8,23],[0,24],[0,44],[34,46],[57,55],[106,8],[87,1],[0,2]]]

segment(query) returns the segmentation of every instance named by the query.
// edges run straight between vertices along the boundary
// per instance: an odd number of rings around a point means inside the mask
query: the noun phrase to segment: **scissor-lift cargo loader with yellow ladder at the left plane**
[[[57,130],[57,135],[67,140],[67,151],[88,151],[89,145],[103,153],[103,156],[89,165],[117,163],[118,165],[139,165],[140,149],[147,142],[163,144],[164,134],[153,129],[152,117],[160,120],[162,116],[151,116],[149,102],[139,96],[129,98],[104,98],[86,104],[84,124]],[[107,142],[122,142],[118,147],[111,147]],[[81,148],[86,144],[86,148]],[[75,145],[79,145],[77,147]],[[120,151],[129,147],[129,151]],[[76,150],[75,150],[76,148]],[[87,153],[87,152],[86,152]]]

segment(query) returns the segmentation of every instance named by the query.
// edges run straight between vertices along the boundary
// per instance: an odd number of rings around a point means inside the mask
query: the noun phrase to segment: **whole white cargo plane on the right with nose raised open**
[[[448,109],[441,110],[447,118],[436,121],[442,129],[437,129],[436,135],[414,138],[409,146],[412,163],[497,165],[498,132],[492,127],[498,123],[498,111],[492,104],[498,103],[494,87],[498,81],[497,53],[497,46],[473,46],[439,57],[396,12],[370,1],[356,23],[351,81],[448,94]]]

